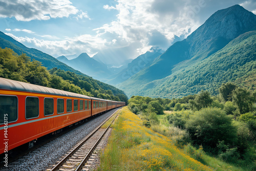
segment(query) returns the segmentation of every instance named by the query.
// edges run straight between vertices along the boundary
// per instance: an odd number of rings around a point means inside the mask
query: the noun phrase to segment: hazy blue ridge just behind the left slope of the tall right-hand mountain
[[[151,48],[150,51],[147,51],[132,60],[132,62],[130,62],[127,67],[118,74],[113,75],[107,83],[115,85],[129,79],[143,68],[150,66],[151,62],[162,53],[163,51],[161,49]]]

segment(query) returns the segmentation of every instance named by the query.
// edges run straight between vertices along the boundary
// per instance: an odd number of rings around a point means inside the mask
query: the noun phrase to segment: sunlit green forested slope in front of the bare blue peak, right
[[[201,90],[217,95],[221,84],[228,81],[256,89],[256,31],[240,35],[202,61],[134,89],[143,96],[163,98],[187,96]]]

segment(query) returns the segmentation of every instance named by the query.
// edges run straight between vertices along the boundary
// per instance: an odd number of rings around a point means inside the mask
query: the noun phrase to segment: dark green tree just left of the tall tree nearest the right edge
[[[219,88],[219,93],[220,93],[221,99],[224,102],[232,101],[232,91],[236,88],[237,88],[237,86],[230,82],[222,83],[221,87]]]

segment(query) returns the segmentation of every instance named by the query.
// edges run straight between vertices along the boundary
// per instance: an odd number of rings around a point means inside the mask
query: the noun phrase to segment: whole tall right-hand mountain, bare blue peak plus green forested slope
[[[253,66],[245,64],[255,60],[255,37],[251,36],[255,32],[246,32],[255,30],[256,15],[252,12],[239,5],[219,10],[186,39],[176,42],[150,66],[117,87],[129,97],[172,98],[202,89],[216,94],[221,83],[244,77],[243,73]],[[240,36],[244,33],[251,37]]]

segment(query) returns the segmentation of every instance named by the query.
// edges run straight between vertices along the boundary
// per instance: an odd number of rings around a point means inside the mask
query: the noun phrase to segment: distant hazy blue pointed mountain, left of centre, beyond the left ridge
[[[87,53],[81,53],[77,58],[71,60],[67,59],[65,56],[59,56],[57,59],[66,63],[68,66],[101,81],[104,81],[106,77],[109,77],[112,74],[106,65],[91,58]]]

